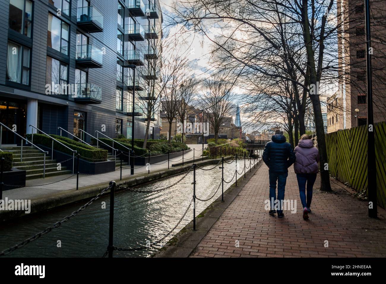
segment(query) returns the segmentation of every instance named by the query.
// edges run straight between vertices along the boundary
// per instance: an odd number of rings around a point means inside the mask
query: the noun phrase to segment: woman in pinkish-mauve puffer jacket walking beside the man
[[[308,213],[311,212],[312,188],[319,170],[319,151],[314,147],[311,136],[306,134],[300,137],[300,141],[293,151],[296,156],[293,169],[298,179],[300,200],[303,206],[303,219],[307,220]]]

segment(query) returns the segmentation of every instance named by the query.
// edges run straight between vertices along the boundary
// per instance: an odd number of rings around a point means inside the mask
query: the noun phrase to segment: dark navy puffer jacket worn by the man
[[[272,136],[272,141],[264,147],[263,161],[270,172],[288,172],[288,167],[295,162],[295,154],[284,135]]]

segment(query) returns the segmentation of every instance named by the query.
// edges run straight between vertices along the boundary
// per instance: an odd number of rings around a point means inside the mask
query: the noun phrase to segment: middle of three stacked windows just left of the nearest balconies
[[[52,14],[48,14],[47,45],[68,54],[69,27]]]

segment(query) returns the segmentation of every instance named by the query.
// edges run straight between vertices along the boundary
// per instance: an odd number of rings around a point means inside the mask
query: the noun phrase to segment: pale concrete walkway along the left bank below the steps
[[[202,153],[202,144],[200,145],[188,145],[192,151],[184,154],[184,162],[185,161],[192,161],[193,160],[193,148],[195,149],[195,160],[198,160]],[[204,147],[207,147],[207,145],[204,145]],[[186,159],[191,158],[191,159]],[[169,166],[171,167],[172,164],[178,164],[182,162],[182,155],[178,157],[174,157],[170,159]],[[152,171],[158,171],[161,169],[167,169],[168,168],[168,162],[161,161],[157,162],[156,164],[152,164],[150,166],[150,172]],[[175,162],[173,162],[175,161]],[[122,169],[122,179],[124,177],[130,177],[130,166],[126,165],[123,166]],[[137,169],[136,169],[137,168]],[[138,176],[140,174],[144,174],[147,172],[146,166],[134,166],[134,176]],[[62,179],[68,178],[66,180],[60,181]],[[119,180],[120,178],[120,168],[116,167],[116,170],[114,172],[107,172],[105,174],[95,174],[95,175],[79,175],[79,188],[83,186],[90,186],[93,184],[99,184],[107,181],[112,180]],[[59,181],[57,183],[54,183],[56,181]],[[49,184],[52,183],[52,184]],[[47,184],[47,185],[41,185],[41,184]],[[67,175],[61,175],[61,176],[55,176],[55,177],[46,177],[44,179],[32,179],[26,181],[26,186],[24,188],[15,188],[3,191],[3,199],[37,199],[44,196],[51,195],[53,193],[57,193],[59,191],[65,191],[68,189],[74,189],[76,188],[76,175],[73,176],[73,174],[67,174]]]

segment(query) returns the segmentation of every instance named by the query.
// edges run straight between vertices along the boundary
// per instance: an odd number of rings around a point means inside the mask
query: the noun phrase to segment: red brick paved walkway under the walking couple
[[[251,177],[230,206],[191,254],[192,257],[385,257],[385,210],[379,219],[367,216],[366,202],[354,198],[332,181],[339,194],[320,192],[314,186],[312,213],[303,220],[293,167],[290,168],[285,199],[297,200],[297,212],[285,217],[269,216],[268,169],[265,165]],[[239,247],[235,247],[235,241]],[[325,247],[328,240],[328,247]]]

